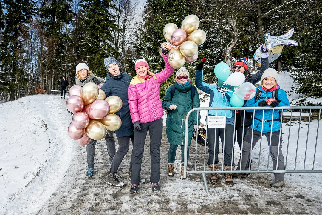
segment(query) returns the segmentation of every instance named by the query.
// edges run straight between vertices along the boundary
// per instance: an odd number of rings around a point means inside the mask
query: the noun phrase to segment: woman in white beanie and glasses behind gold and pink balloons
[[[100,77],[94,76],[90,72],[90,68],[84,64],[79,63],[76,66],[76,84],[80,86],[84,86],[86,83],[95,83],[95,84],[103,84],[104,80]],[[115,141],[114,141],[114,132],[108,131],[105,136],[107,152],[109,154],[109,162],[112,164],[113,157],[115,155]],[[87,177],[94,176],[94,156],[95,156],[95,146],[96,140],[90,140],[90,142],[86,145],[87,152]]]

